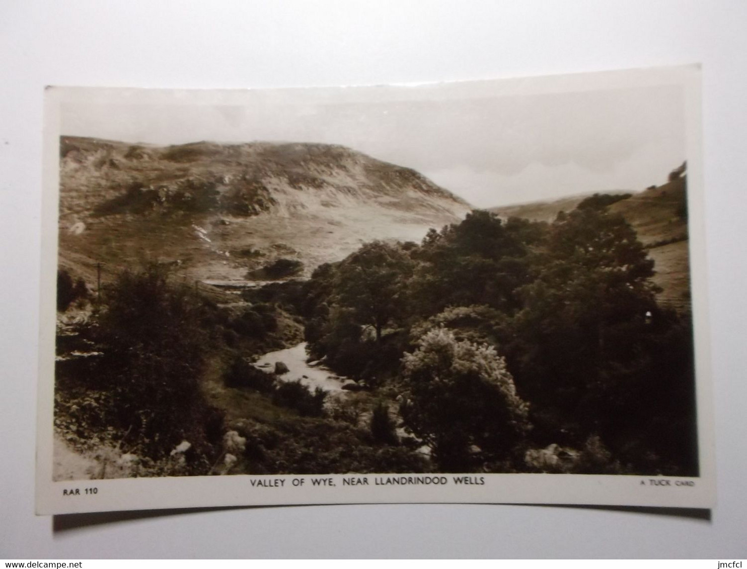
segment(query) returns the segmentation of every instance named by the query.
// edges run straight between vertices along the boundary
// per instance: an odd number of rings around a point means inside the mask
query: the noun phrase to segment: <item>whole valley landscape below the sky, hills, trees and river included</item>
[[[486,211],[338,145],[65,136],[60,190],[59,479],[698,470],[684,169]]]

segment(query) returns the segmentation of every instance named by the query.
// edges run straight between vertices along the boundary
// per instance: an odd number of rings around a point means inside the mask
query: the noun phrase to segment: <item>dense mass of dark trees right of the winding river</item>
[[[695,474],[689,315],[657,304],[654,263],[607,211],[616,201],[592,196],[551,224],[475,211],[420,245],[364,245],[306,286],[311,353],[399,386],[403,424],[439,468],[521,469],[522,445],[583,454],[595,441],[622,470]],[[478,370],[489,352],[500,373]]]

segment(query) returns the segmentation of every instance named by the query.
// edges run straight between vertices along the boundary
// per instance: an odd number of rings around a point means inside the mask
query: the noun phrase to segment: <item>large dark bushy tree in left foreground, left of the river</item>
[[[222,419],[200,388],[204,316],[190,288],[171,283],[160,265],[124,271],[106,292],[96,328],[104,355],[92,387],[112,394],[113,407],[102,409],[110,426],[128,431],[154,459],[182,440],[209,456],[211,438],[220,438]]]

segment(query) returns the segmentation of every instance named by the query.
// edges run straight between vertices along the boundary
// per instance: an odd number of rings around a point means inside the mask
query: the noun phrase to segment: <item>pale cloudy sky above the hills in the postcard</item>
[[[297,91],[297,94],[300,91]],[[178,99],[177,99],[178,100]],[[124,142],[326,142],[421,172],[476,207],[666,181],[685,159],[680,86],[439,100],[65,103],[61,133]]]

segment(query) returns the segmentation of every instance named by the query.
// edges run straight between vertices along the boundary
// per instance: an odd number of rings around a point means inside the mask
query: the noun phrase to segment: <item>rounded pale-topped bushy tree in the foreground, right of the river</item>
[[[495,349],[430,330],[403,357],[406,428],[430,446],[438,468],[474,470],[510,459],[530,428],[529,406]]]

